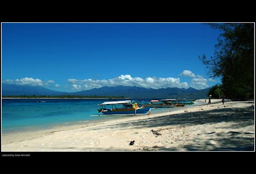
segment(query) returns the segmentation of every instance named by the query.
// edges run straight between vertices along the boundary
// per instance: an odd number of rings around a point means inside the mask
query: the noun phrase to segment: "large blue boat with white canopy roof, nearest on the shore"
[[[151,106],[138,106],[137,103],[131,100],[125,101],[106,101],[99,104],[99,115],[140,115],[150,114]]]

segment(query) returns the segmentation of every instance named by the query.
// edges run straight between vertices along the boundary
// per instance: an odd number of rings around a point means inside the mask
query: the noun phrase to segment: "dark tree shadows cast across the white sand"
[[[143,118],[143,117],[142,117]],[[232,108],[226,106],[223,108],[216,108],[214,110],[198,112],[186,112],[173,115],[166,115],[162,117],[152,117],[150,119],[141,119],[132,122],[124,122],[115,124],[113,126],[106,126],[105,128],[118,128],[128,129],[134,127],[134,129],[142,129],[143,127],[159,127],[159,126],[196,126],[202,124],[217,124],[220,122],[232,122],[228,129],[240,129],[246,126],[254,126],[254,108],[248,106],[246,108]],[[130,129],[130,128],[129,128]],[[161,147],[158,150],[163,151],[253,151],[254,150],[254,132],[244,133],[237,131],[229,131],[228,133],[208,133],[214,134],[207,140],[218,141],[218,147],[212,145],[209,141],[191,140],[188,144],[184,145],[182,149],[172,148],[168,149]]]

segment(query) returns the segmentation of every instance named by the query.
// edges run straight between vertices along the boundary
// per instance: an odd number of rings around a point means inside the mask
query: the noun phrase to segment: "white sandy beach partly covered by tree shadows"
[[[2,152],[255,150],[254,101],[198,102],[179,111],[2,135]]]

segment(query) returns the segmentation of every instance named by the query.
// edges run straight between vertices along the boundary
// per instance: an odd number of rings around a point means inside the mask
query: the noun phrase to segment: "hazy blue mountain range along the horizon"
[[[140,99],[166,99],[166,98],[207,98],[208,89],[197,90],[193,88],[179,89],[165,88],[165,89],[146,89],[143,87],[100,87],[99,89],[91,89],[79,92],[60,92],[52,91],[44,87],[25,86],[25,85],[12,85],[2,84],[3,96],[61,96],[61,95],[74,95],[74,96],[124,96],[125,98],[140,98]]]

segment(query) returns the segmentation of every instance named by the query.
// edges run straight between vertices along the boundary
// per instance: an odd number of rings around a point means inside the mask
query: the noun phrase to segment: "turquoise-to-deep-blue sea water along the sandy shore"
[[[98,104],[104,101],[109,99],[2,99],[2,133],[19,133],[125,117],[92,116],[99,114]],[[177,109],[180,108],[157,108],[152,109],[151,113]]]

